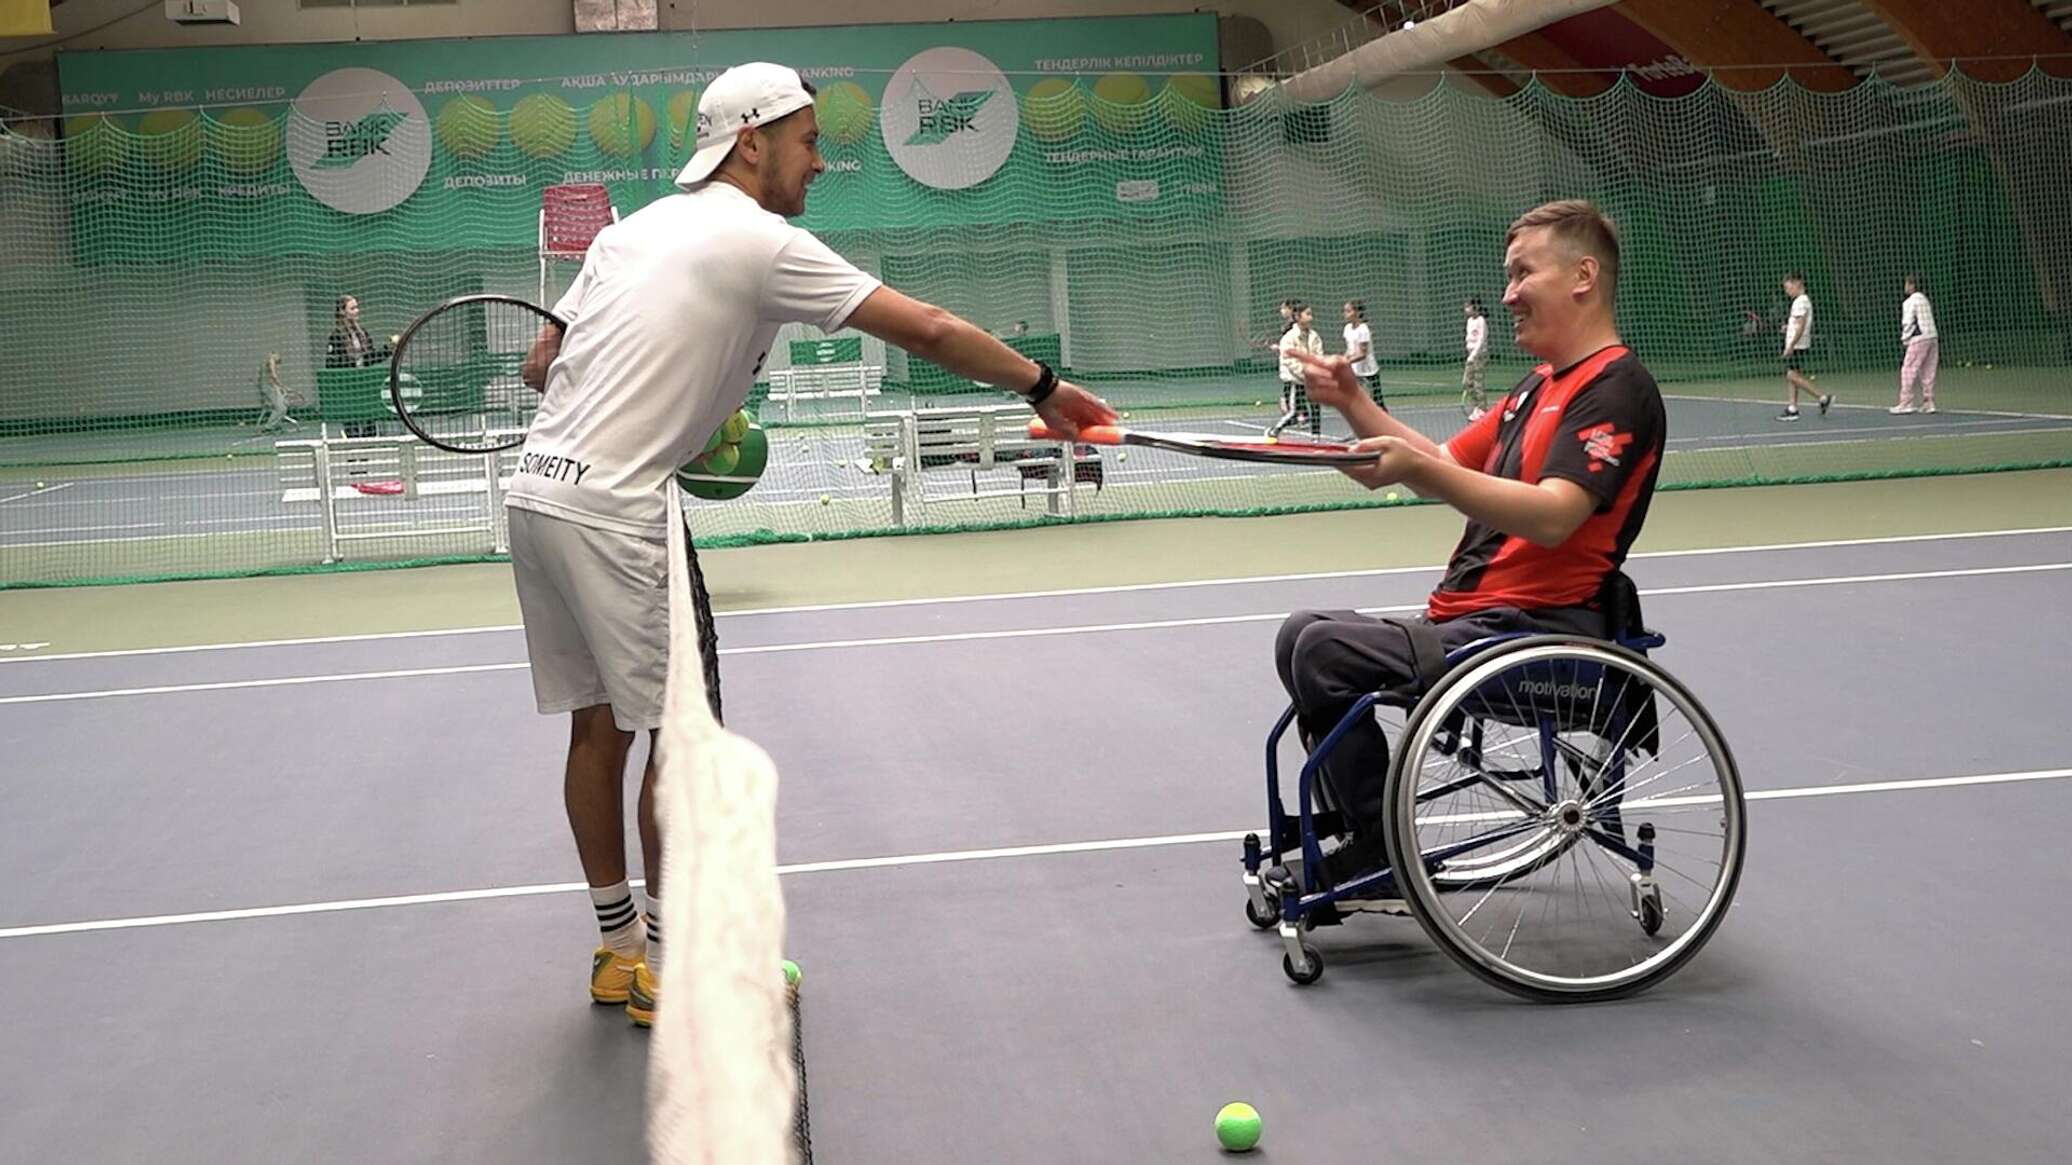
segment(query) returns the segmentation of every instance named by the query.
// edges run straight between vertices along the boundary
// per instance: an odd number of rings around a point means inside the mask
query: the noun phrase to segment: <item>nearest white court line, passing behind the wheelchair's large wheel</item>
[[[1921,777],[1910,782],[1865,782],[1854,786],[1805,786],[1782,790],[1759,790],[1747,800],[1796,800],[1811,796],[1869,794],[1869,792],[1912,792],[1968,788],[2022,782],[2055,782],[2072,777],[2072,769],[2031,769],[2020,773],[1977,773],[1964,777]],[[1666,800],[1660,804],[1668,804]],[[1154,837],[1113,837],[1100,842],[1063,842],[1053,846],[1005,846],[995,850],[945,850],[937,854],[901,854],[887,858],[843,858],[833,862],[800,862],[777,866],[779,875],[876,871],[899,866],[928,866],[941,862],[978,862],[1001,858],[1038,858],[1057,854],[1098,854],[1111,850],[1152,850],[1160,846],[1198,846],[1210,842],[1239,842],[1245,833],[1260,829],[1222,829],[1214,833],[1169,833]],[[636,879],[632,885],[640,885]],[[193,914],[147,914],[137,918],[97,918],[91,922],[46,922],[37,927],[4,927],[0,939],[35,939],[44,935],[81,935],[89,931],[141,931],[147,927],[176,927],[184,922],[238,922],[247,918],[286,918],[294,914],[336,914],[344,910],[379,910],[390,906],[435,906],[445,902],[483,902],[495,898],[533,898],[541,893],[576,893],[588,889],[580,881],[553,881],[539,885],[501,885],[489,889],[445,889],[437,893],[398,893],[390,898],[346,898],[338,902],[298,902],[292,906],[249,906],[242,910],[201,910]]]

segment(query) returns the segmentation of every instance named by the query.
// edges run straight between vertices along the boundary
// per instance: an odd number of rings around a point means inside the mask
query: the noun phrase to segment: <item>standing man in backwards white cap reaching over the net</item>
[[[814,91],[779,64],[721,73],[698,102],[682,193],[599,232],[524,363],[543,392],[512,479],[512,578],[541,713],[568,713],[562,792],[603,945],[591,999],[655,1018],[661,835],[640,786],[646,927],[626,877],[626,755],[661,726],[669,670],[667,489],[748,398],[783,323],[858,328],[976,381],[1011,386],[1048,425],[1115,421],[1100,398],[949,311],[908,299],[785,220],[827,168]],[[651,736],[653,740],[653,736]],[[653,748],[653,744],[651,744]]]

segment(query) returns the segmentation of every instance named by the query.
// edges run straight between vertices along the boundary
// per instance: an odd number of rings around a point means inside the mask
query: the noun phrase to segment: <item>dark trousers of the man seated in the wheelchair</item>
[[[1411,636],[1403,630],[1415,620],[1376,618],[1359,612],[1295,612],[1280,624],[1274,638],[1274,667],[1280,686],[1295,701],[1295,726],[1303,746],[1314,748],[1330,734],[1359,697],[1392,688],[1419,674]],[[1506,632],[1562,632],[1604,636],[1602,612],[1589,607],[1550,607],[1521,612],[1492,607],[1436,624],[1446,651],[1467,647],[1477,638]],[[1434,667],[1426,661],[1426,667]],[[1380,837],[1382,792],[1388,784],[1388,738],[1374,717],[1363,717],[1339,740],[1324,759],[1324,782],[1332,800],[1361,833]]]

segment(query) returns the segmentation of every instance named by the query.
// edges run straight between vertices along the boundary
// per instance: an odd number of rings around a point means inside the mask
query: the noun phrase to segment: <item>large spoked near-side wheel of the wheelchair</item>
[[[1473,726],[1477,748],[1461,748]],[[1645,991],[1714,935],[1740,773],[1697,697],[1608,643],[1527,636],[1413,709],[1388,773],[1397,885],[1473,974],[1537,1001]]]

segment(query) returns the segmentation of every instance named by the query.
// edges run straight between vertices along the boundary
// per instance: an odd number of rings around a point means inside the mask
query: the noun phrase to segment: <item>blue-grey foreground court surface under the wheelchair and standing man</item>
[[[1299,989],[1243,920],[1278,616],[1430,570],[723,616],[818,1159],[1214,1161],[1237,1099],[1283,1163],[2072,1157],[2072,533],[1631,574],[1751,842],[1711,945],[1587,1007],[1397,918]],[[0,663],[0,1157],[638,1161],[528,701],[512,630]]]

